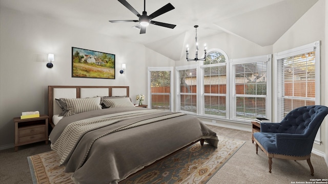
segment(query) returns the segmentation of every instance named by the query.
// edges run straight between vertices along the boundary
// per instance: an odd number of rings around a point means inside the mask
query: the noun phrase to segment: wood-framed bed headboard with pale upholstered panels
[[[127,96],[129,86],[48,86],[49,123],[53,126],[52,116],[59,114],[61,109],[56,104],[56,98],[88,98],[96,96]]]

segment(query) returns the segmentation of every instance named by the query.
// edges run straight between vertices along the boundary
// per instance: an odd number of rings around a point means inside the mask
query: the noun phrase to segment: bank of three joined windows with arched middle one
[[[272,55],[229,60],[219,49],[176,67],[176,111],[250,123],[271,117]]]

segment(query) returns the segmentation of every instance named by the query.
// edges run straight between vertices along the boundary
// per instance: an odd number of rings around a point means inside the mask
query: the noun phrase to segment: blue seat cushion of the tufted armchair
[[[276,133],[256,132],[254,133],[254,139],[256,139],[268,153],[278,154],[276,146]]]

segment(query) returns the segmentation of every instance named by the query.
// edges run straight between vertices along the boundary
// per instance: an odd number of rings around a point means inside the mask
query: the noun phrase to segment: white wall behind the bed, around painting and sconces
[[[48,85],[127,85],[135,102],[137,94],[147,94],[146,60],[147,65],[158,58],[167,63],[155,52],[146,58],[146,51],[150,51],[144,45],[95,34],[87,28],[4,7],[0,17],[0,149],[13,147],[13,118],[22,111],[48,114]],[[115,54],[115,80],[72,78],[72,47]],[[46,67],[48,53],[55,55],[51,69]],[[122,63],[127,65],[124,75],[119,74]]]

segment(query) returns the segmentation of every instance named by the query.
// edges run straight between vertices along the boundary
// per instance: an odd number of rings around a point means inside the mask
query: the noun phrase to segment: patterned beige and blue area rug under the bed
[[[218,136],[218,148],[199,142],[120,181],[131,183],[206,183],[245,143],[240,140]],[[65,173],[58,166],[59,156],[55,151],[29,156],[31,176],[37,183],[73,183],[73,173]]]

